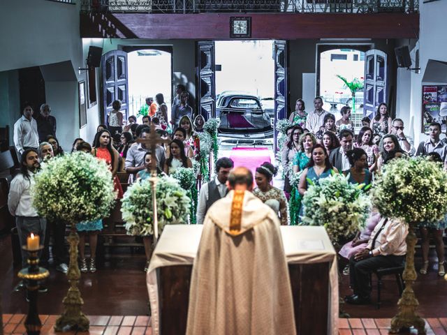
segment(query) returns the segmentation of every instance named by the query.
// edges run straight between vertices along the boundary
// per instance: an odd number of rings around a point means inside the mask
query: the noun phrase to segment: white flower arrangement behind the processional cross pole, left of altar
[[[186,223],[191,200],[177,179],[159,178],[156,183],[156,200],[160,232],[165,225]],[[149,179],[134,183],[127,189],[121,211],[128,234],[147,236],[154,233],[154,211]]]

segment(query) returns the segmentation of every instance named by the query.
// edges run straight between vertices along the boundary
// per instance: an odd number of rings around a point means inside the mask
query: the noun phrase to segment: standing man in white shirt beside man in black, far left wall
[[[33,118],[33,113],[33,108],[25,105],[22,117],[14,124],[14,145],[19,155],[26,149],[37,150],[39,146],[37,122]]]

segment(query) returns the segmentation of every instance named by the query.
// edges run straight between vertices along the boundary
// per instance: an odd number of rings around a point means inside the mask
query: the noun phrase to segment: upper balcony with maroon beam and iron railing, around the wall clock
[[[252,39],[418,38],[414,0],[82,0],[85,38],[230,39],[234,16]]]

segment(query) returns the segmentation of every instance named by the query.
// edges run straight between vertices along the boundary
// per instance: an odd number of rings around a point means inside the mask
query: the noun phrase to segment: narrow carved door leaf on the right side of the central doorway
[[[274,152],[277,151],[277,121],[288,115],[288,51],[286,40],[274,40]]]

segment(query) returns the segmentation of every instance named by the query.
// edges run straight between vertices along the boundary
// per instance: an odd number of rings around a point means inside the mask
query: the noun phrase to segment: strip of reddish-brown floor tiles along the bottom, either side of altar
[[[41,315],[42,329],[41,334],[55,334],[54,322],[57,315]],[[90,320],[89,332],[65,332],[57,334],[103,334],[103,335],[151,335],[149,316],[122,316],[122,315],[92,315],[88,316]],[[24,314],[4,314],[3,331],[5,335],[25,334]],[[339,319],[339,335],[384,335],[388,334],[391,319],[368,319],[351,318]],[[447,335],[447,318],[427,318],[425,329],[427,335]],[[417,334],[416,330],[401,334]],[[309,334],[323,335],[323,334]]]

